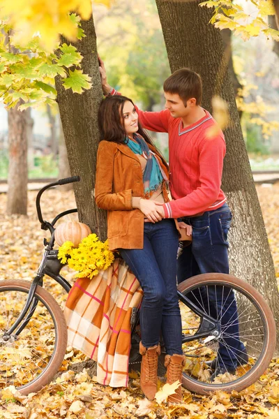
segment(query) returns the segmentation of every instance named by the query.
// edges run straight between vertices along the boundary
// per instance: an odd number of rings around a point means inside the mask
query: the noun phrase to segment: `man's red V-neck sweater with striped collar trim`
[[[183,128],[169,110],[143,112],[140,123],[150,131],[169,134],[169,188],[174,200],[163,205],[166,218],[217,210],[225,201],[221,186],[226,145],[223,132],[205,110],[193,125]]]

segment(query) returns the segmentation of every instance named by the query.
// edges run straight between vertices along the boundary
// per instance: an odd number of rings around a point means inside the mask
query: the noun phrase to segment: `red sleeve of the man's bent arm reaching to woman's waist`
[[[225,148],[225,140],[222,136],[204,140],[199,154],[201,186],[188,196],[164,204],[165,218],[199,214],[216,202],[222,182]]]

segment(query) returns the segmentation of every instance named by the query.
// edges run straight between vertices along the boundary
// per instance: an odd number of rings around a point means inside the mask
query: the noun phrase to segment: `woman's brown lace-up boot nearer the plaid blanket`
[[[144,348],[140,342],[142,364],[140,366],[140,388],[149,400],[153,400],[157,392],[157,369],[160,345]]]

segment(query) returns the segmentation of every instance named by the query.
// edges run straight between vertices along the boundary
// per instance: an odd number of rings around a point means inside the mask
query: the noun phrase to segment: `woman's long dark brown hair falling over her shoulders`
[[[105,98],[100,104],[98,112],[98,124],[101,140],[123,143],[126,142],[127,134],[123,126],[121,115],[123,113],[124,103],[127,101],[133,103],[130,98],[115,94],[114,96],[107,96],[107,98]],[[146,142],[153,145],[151,138],[149,138],[149,135],[147,135],[147,133],[144,131],[140,125],[140,122],[138,123],[138,127],[139,128],[137,133],[142,135]]]

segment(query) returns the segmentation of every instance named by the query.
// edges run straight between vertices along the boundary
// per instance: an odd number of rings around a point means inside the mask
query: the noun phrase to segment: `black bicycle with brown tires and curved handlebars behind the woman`
[[[79,180],[79,177],[61,179],[38,192],[38,219],[41,228],[49,230],[50,239],[44,239],[43,258],[33,281],[0,281],[0,390],[15,385],[23,395],[37,392],[52,380],[63,361],[67,325],[59,304],[43,288],[43,279],[47,274],[67,293],[70,291],[70,284],[60,274],[64,265],[54,249],[54,226],[61,217],[77,212],[77,209],[61,212],[50,223],[43,220],[40,197],[52,186]],[[216,290],[216,301],[212,298],[213,289]],[[236,298],[238,320],[232,316],[224,324],[223,316],[231,293]],[[208,394],[215,390],[239,391],[257,381],[268,367],[276,345],[276,325],[262,295],[246,282],[227,274],[202,274],[187,279],[179,284],[178,295],[186,355],[183,386],[193,392]],[[221,303],[220,295],[223,295]],[[132,316],[132,358],[135,358],[139,341],[137,318]],[[239,336],[229,335],[229,326],[236,321]],[[228,342],[238,339],[244,343],[245,351],[236,355],[236,372],[225,372],[212,381],[213,366],[209,362],[218,359],[219,345],[229,349]]]

